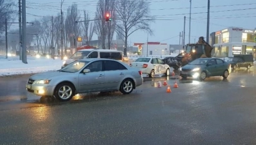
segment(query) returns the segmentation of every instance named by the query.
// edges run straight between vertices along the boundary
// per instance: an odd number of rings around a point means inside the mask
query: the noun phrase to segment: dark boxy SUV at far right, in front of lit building
[[[233,69],[242,67],[250,69],[254,65],[253,55],[251,54],[234,55],[234,57],[228,57],[226,61],[231,64]]]

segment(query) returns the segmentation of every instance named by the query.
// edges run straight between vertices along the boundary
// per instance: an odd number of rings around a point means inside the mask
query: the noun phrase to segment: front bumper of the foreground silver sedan
[[[48,86],[46,84],[26,84],[26,90],[35,95],[52,96],[54,95],[55,86]]]

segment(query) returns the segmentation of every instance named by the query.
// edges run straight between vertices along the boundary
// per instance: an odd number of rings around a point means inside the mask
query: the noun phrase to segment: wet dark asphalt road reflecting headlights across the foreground
[[[130,95],[69,102],[27,93],[29,75],[0,78],[0,144],[256,144],[256,70],[228,79],[144,79]],[[173,86],[175,79],[168,79]]]

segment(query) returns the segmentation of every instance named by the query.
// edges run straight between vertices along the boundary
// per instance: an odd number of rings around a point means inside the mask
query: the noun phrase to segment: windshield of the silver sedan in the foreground
[[[75,73],[81,70],[86,64],[88,64],[89,61],[74,61],[73,63],[68,64],[61,70],[60,72],[70,72],[70,73]]]

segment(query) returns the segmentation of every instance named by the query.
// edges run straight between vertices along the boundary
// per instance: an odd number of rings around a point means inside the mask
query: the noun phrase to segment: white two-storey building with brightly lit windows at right
[[[256,30],[229,27],[210,35],[213,57],[232,57],[234,54],[253,54],[256,57]]]

